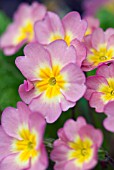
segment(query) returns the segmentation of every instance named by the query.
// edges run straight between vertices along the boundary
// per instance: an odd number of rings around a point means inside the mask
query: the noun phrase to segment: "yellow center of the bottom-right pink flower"
[[[77,136],[74,142],[69,142],[71,150],[68,153],[68,159],[75,160],[77,167],[82,167],[84,163],[88,163],[93,157],[93,141],[85,137],[81,139]]]

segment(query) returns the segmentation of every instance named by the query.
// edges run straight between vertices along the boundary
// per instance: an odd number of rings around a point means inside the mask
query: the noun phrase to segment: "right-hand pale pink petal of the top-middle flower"
[[[62,23],[65,29],[65,33],[72,33],[72,40],[77,38],[78,40],[82,40],[83,36],[87,29],[87,22],[81,20],[81,17],[78,12],[70,12],[63,19]]]

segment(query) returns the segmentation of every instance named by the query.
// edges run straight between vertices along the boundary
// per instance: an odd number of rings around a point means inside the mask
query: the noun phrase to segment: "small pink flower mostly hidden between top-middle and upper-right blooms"
[[[84,18],[87,23],[88,23],[88,27],[85,33],[85,36],[92,34],[97,28],[99,28],[100,23],[99,20],[92,17],[92,16],[88,16]]]

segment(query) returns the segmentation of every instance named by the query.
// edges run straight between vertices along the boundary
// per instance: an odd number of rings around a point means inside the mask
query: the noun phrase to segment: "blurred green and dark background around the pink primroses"
[[[32,3],[33,0],[0,0],[0,35],[12,21],[14,12],[22,2]],[[108,27],[114,28],[114,0],[39,0],[38,2],[45,4],[48,10],[58,13],[61,17],[67,12],[75,10],[82,17],[87,15],[97,17],[100,20],[100,26],[104,30]],[[20,55],[23,55],[22,49],[11,57],[4,56],[3,52],[0,51],[0,113],[7,106],[16,107],[17,101],[20,100],[18,87],[24,78],[14,64],[15,58]],[[93,74],[94,71],[88,73],[88,75]],[[76,118],[79,115],[84,116],[88,123],[103,131],[103,150],[106,150],[110,157],[114,159],[114,134],[107,132],[102,126],[105,115],[103,113],[95,113],[85,99],[81,99],[77,103],[74,113],[70,109],[67,113],[63,113],[54,124],[47,125],[45,137],[55,139],[57,130],[63,126],[65,120],[71,117]],[[95,169],[114,170],[114,162],[110,157],[103,158],[104,161],[99,161]],[[48,170],[52,169],[53,163],[51,162]]]

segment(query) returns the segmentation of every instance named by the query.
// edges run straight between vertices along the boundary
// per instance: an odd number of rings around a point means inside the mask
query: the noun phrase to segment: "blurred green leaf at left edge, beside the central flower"
[[[17,54],[18,56],[19,54]],[[0,51],[0,110],[16,107],[20,100],[18,87],[24,78],[15,66],[15,56],[6,57]]]

